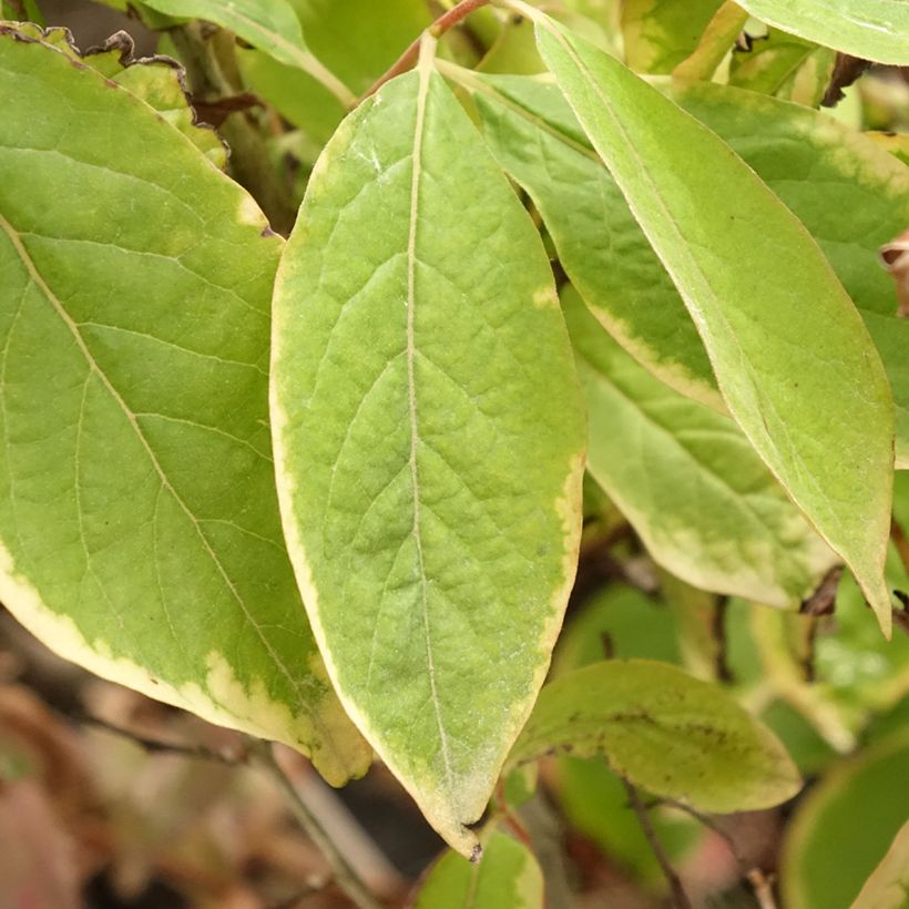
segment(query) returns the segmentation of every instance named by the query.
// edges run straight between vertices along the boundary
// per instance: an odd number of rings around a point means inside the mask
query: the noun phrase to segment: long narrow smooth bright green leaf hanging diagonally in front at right
[[[889,634],[893,401],[855,306],[808,232],[714,133],[544,17],[538,40],[682,294],[731,412]]]

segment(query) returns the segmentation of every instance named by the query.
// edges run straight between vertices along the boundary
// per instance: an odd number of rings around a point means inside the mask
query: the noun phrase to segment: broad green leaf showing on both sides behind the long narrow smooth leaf
[[[447,72],[474,93],[494,154],[533,198],[600,323],[670,387],[725,412],[694,323],[558,88]],[[909,223],[909,170],[869,137],[794,104],[709,84],[678,86],[672,96],[722,135],[817,239],[884,360],[896,463],[909,467],[909,329],[893,315],[893,282],[878,262],[880,246]]]

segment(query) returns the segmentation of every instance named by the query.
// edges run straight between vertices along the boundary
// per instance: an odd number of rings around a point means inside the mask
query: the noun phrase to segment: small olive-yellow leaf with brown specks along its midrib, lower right
[[[801,782],[774,734],[716,685],[650,660],[613,660],[547,685],[509,765],[603,755],[635,786],[703,811],[757,810]]]

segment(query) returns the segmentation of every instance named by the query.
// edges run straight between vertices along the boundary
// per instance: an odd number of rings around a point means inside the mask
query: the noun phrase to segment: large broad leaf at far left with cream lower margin
[[[95,70],[3,28],[0,68],[0,598],[62,656],[341,783],[369,753],[306,623],[268,443],[282,243]]]

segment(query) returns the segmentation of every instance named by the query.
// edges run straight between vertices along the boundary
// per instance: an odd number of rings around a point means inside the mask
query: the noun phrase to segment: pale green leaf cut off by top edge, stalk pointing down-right
[[[356,95],[329,72],[303,40],[303,30],[294,8],[287,0],[143,0],[167,16],[182,19],[205,19],[267,53],[280,63],[309,73],[344,105],[356,103]]]

